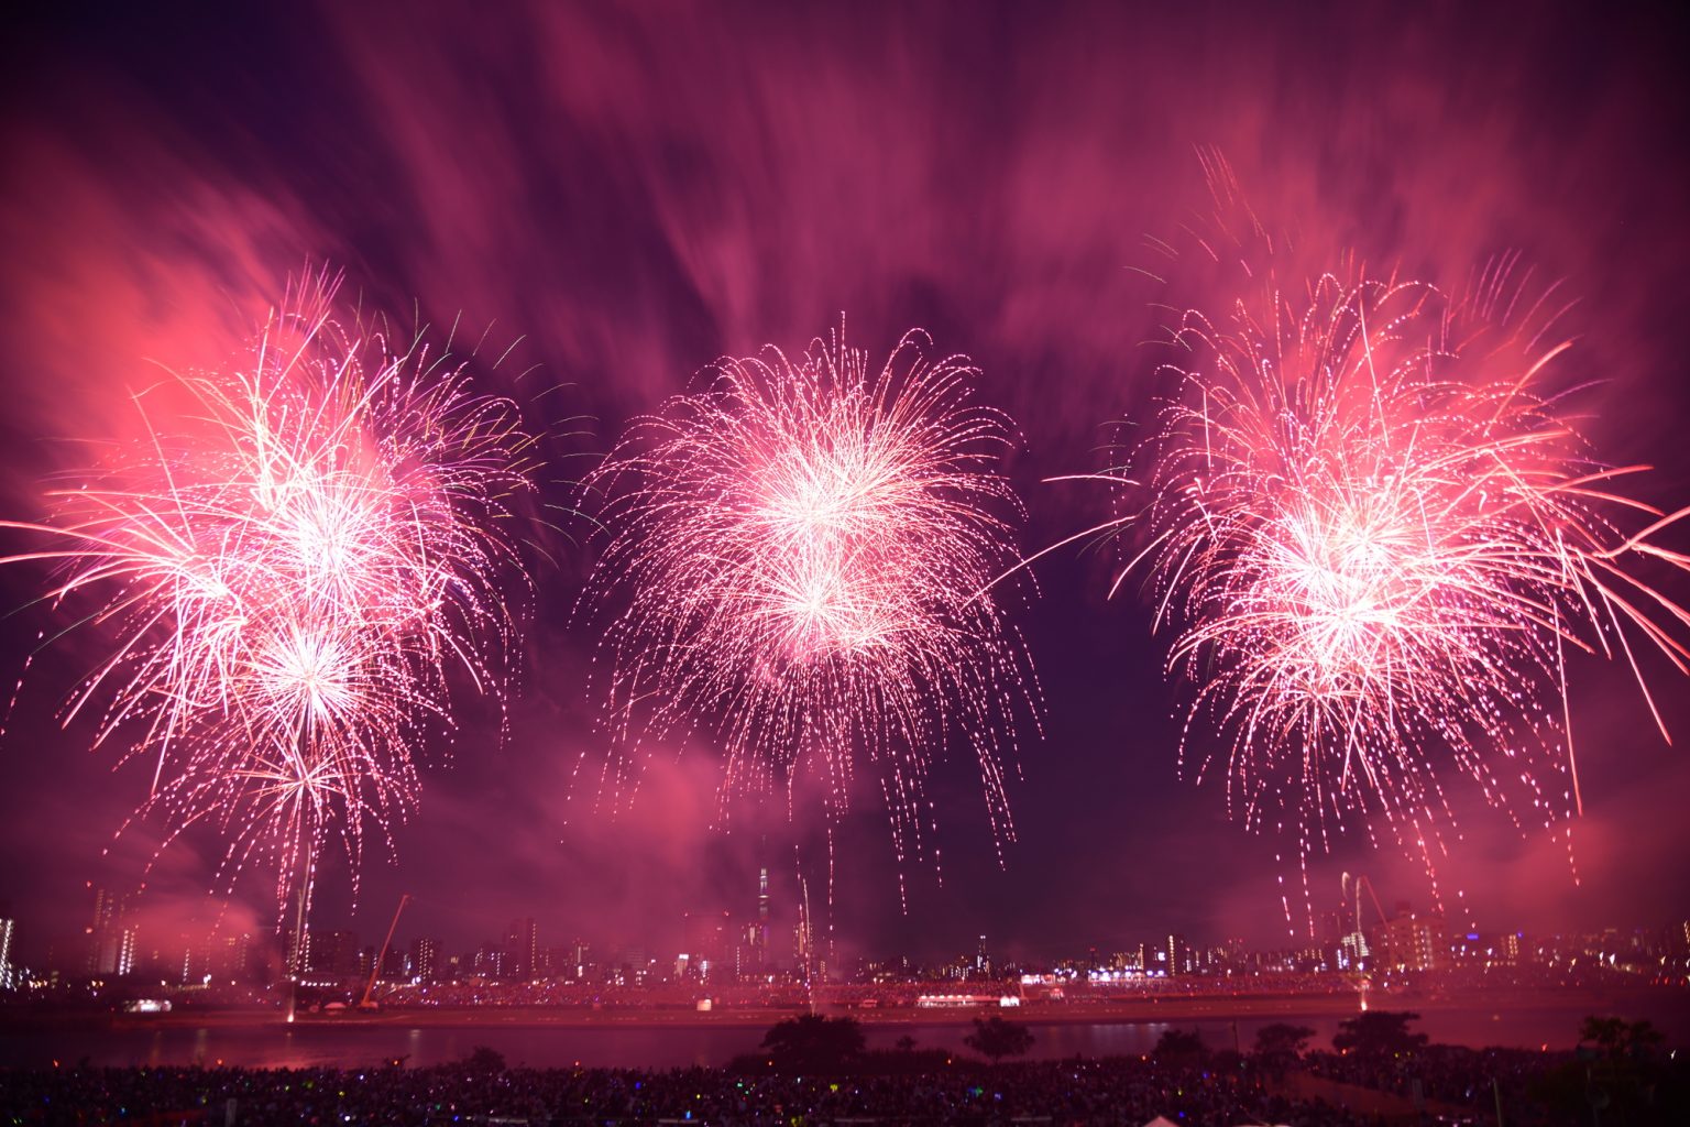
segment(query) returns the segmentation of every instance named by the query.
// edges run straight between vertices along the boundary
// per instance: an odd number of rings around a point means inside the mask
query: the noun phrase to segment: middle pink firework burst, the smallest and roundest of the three
[[[867,759],[901,860],[924,855],[923,781],[958,730],[1012,836],[1002,764],[1014,718],[1038,711],[1022,640],[980,595],[1014,559],[1011,422],[968,406],[975,370],[930,346],[906,335],[879,373],[840,338],[723,360],[588,482],[607,495],[588,598],[619,607],[619,737],[713,728],[723,794],[813,764],[831,814]]]

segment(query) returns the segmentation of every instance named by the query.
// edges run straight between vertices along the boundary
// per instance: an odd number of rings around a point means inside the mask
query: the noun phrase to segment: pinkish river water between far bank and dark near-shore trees
[[[1649,1017],[1670,1043],[1690,1034],[1690,997],[1651,999],[1648,1009],[1621,1007],[1629,1017]],[[1545,1005],[1428,1009],[1416,1027],[1435,1043],[1469,1046],[1570,1048],[1589,1007]],[[1139,1056],[1149,1053],[1171,1027],[1197,1029],[1213,1049],[1249,1049],[1256,1031],[1289,1021],[1315,1029],[1313,1044],[1325,1048],[1340,1021],[1333,1014],[1274,1014],[1266,1017],[1203,1017],[1180,1022],[1107,1022],[1033,1026],[1034,1059],[1066,1056]],[[303,1022],[284,1026],[145,1026],[128,1029],[5,1029],[0,1027],[0,1064],[51,1064],[54,1059],[91,1064],[204,1064],[247,1068],[379,1066],[406,1058],[411,1066],[460,1061],[477,1046],[490,1046],[515,1064],[598,1068],[684,1068],[727,1064],[755,1053],[762,1039],[755,1026],[404,1026]],[[919,1048],[940,1048],[968,1056],[963,1037],[970,1026],[875,1024],[865,1029],[869,1048],[891,1049],[899,1037]]]

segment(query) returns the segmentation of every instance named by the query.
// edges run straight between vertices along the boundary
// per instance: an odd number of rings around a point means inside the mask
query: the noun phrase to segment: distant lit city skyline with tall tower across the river
[[[270,985],[282,966],[286,934],[240,931],[238,926],[188,924],[157,917],[145,924],[130,894],[88,889],[91,914],[78,934],[37,936],[15,943],[17,921],[0,916],[0,943],[7,958],[0,972],[8,982],[25,977],[59,988],[84,980],[149,982],[167,987],[198,985],[201,977],[233,983]],[[742,897],[747,904],[752,897]],[[539,982],[564,980],[615,985],[691,983],[695,987],[759,982],[865,982],[887,980],[1004,980],[1021,973],[1077,973],[1102,980],[1124,977],[1203,977],[1232,972],[1317,972],[1347,975],[1371,972],[1384,982],[1391,972],[1458,968],[1477,960],[1482,966],[1543,965],[1548,956],[1595,955],[1595,966],[1624,958],[1627,973],[1661,982],[1690,982],[1690,919],[1607,923],[1558,933],[1516,928],[1469,929],[1442,911],[1411,901],[1381,901],[1357,887],[1354,907],[1323,911],[1313,936],[1261,948],[1237,936],[1186,934],[1178,921],[1141,934],[1085,936],[1046,950],[994,946],[989,936],[935,936],[935,950],[950,955],[911,958],[909,951],[864,950],[853,943],[806,936],[801,916],[772,911],[767,884],[759,880],[755,907],[686,911],[668,931],[644,936],[597,933],[583,926],[556,926],[521,916],[505,928],[490,921],[460,921],[455,934],[417,933],[401,926],[411,897],[402,897],[385,933],[365,933],[346,921],[318,919],[308,934],[303,973],[316,985],[372,985],[397,982]],[[1386,904],[1391,904],[1386,907]],[[1359,917],[1357,917],[1359,912]],[[379,923],[379,921],[377,921]],[[380,943],[375,934],[385,934]],[[466,939],[465,936],[480,936]],[[820,948],[806,953],[806,943]],[[1551,955],[1556,953],[1556,955]],[[811,963],[810,960],[815,958]],[[10,960],[10,966],[7,966]],[[1658,963],[1658,965],[1656,965]],[[372,973],[380,968],[379,973]],[[1653,966],[1653,970],[1651,970]],[[1114,972],[1114,973],[1109,973]],[[1384,973],[1381,980],[1377,975]],[[1665,977],[1665,978],[1663,978]]]

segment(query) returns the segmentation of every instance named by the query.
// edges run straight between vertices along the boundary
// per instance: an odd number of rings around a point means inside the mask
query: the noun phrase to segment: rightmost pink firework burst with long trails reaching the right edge
[[[1567,345],[1506,277],[1465,301],[1269,284],[1178,328],[1191,360],[1144,448],[1149,502],[1126,522],[1146,544],[1120,578],[1146,568],[1193,686],[1181,759],[1198,777],[1224,760],[1234,816],[1295,828],[1305,862],[1382,823],[1430,872],[1450,765],[1516,825],[1568,816],[1568,654],[1624,656],[1644,700],[1639,640],[1687,669],[1690,618],[1648,580],[1690,563],[1658,544],[1685,514],[1617,492],[1638,466],[1595,463],[1536,390]],[[1191,755],[1200,718],[1218,755]]]

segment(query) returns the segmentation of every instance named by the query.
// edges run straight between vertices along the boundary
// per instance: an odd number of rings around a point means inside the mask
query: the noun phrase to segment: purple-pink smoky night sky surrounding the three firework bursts
[[[798,348],[850,319],[884,353],[909,326],[984,368],[980,397],[1024,433],[1012,473],[1031,551],[1109,500],[1041,478],[1095,468],[1112,419],[1142,419],[1164,360],[1154,302],[1213,308],[1224,289],[1169,270],[1205,211],[1198,145],[1230,159],[1300,260],[1354,250],[1457,284],[1518,250],[1578,304],[1555,377],[1578,392],[1600,455],[1648,461],[1638,488],[1690,493],[1682,289],[1690,262],[1685,42],[1644,8],[1286,5],[287,5],[274,17],[63,10],[7,32],[0,71],[0,497],[39,512],[64,438],[134,426],[125,390],[150,362],[216,365],[306,262],[348,292],[412,309],[509,362],[478,378],[534,422],[580,416],[549,443],[548,500],[722,353]],[[1484,5],[1491,8],[1491,5]],[[490,15],[488,12],[497,12]],[[1529,14],[1529,15],[1528,15]],[[1146,277],[1158,267],[1168,284]],[[490,329],[488,329],[490,326]],[[517,378],[515,373],[529,370]],[[563,385],[563,387],[556,387]],[[585,429],[564,436],[566,429]],[[568,524],[568,522],[566,522]],[[740,809],[713,828],[708,745],[654,755],[629,809],[593,808],[603,738],[585,694],[590,625],[571,607],[597,542],[585,522],[534,563],[536,605],[500,747],[472,723],[451,765],[424,772],[390,863],[365,867],[357,928],[453,946],[532,914],[563,941],[671,941],[696,907],[752,907],[767,857],[791,901],[794,843],[820,879],[815,806]],[[17,541],[5,541],[8,549]],[[967,762],[940,770],[943,884],[908,874],[884,816],[838,830],[835,933],[852,950],[1056,953],[1183,929],[1278,943],[1276,843],[1229,825],[1217,786],[1176,777],[1173,689],[1149,613],[1105,602],[1104,558],[1058,553],[1024,615],[1046,698],[1011,789],[1019,841],[999,868]],[[0,574],[5,608],[39,573]],[[1690,591],[1680,588],[1682,598]],[[10,686],[34,610],[0,627]],[[145,789],[137,764],[51,723],[98,652],[71,635],[35,661],[0,742],[0,907],[25,956],[79,929],[84,882],[122,887],[145,830],[103,857]],[[1690,738],[1685,683],[1651,671]],[[1658,923],[1690,889],[1690,762],[1653,733],[1619,669],[1575,667],[1587,814],[1565,847],[1516,833],[1453,781],[1465,811],[1442,865],[1480,928]],[[583,765],[585,764],[585,765]],[[204,841],[164,853],[149,911],[210,912]],[[1338,874],[1389,899],[1426,882],[1359,841],[1317,858],[1318,906]],[[1462,901],[1457,901],[1457,890]],[[1455,904],[1465,907],[1455,907]],[[265,887],[226,909],[264,916]],[[319,926],[346,919],[333,872]]]

